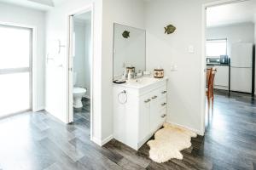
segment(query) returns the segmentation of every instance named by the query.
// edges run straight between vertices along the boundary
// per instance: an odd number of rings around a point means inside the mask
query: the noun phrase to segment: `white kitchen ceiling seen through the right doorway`
[[[207,8],[207,27],[253,22],[256,0]]]

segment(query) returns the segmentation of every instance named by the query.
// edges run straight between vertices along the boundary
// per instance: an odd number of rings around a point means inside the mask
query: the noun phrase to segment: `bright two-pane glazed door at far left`
[[[32,29],[0,25],[0,117],[32,110]]]

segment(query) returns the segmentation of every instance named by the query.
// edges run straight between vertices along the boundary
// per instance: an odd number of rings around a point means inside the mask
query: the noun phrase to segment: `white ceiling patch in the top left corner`
[[[35,8],[39,10],[49,10],[67,0],[0,0],[2,3],[11,3],[28,8]]]

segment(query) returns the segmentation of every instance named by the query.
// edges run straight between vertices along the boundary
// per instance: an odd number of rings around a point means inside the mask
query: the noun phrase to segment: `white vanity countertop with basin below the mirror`
[[[154,77],[141,77],[138,79],[131,79],[130,81],[126,81],[123,84],[113,83],[114,86],[121,86],[125,88],[145,88],[155,82],[163,82],[168,80],[167,77],[164,78],[154,78]]]

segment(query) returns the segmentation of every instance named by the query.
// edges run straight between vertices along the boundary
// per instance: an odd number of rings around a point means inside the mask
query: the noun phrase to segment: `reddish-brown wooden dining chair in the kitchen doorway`
[[[208,102],[208,111],[210,109],[211,101],[212,101],[212,110],[213,110],[213,101],[214,101],[214,77],[217,70],[212,67],[211,69],[207,69],[207,102]]]

